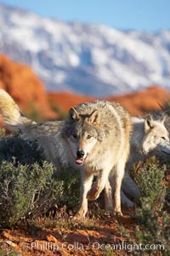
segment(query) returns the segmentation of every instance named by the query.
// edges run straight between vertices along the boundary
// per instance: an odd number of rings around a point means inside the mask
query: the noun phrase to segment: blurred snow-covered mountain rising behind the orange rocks
[[[151,84],[170,89],[170,31],[118,31],[0,5],[0,51],[31,65],[47,90],[108,96]]]

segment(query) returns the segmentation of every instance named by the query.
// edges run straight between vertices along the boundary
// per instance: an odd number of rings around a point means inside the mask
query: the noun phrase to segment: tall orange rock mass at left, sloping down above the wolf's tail
[[[37,112],[42,119],[55,119],[44,86],[27,65],[19,64],[0,55],[0,88],[10,94],[21,110]]]

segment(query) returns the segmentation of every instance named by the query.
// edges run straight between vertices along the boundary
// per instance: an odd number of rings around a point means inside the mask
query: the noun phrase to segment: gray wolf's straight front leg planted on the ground
[[[81,174],[81,192],[80,192],[80,209],[77,212],[76,217],[82,218],[85,217],[88,212],[88,191],[91,189],[92,182],[94,179],[94,174],[87,173],[82,171]]]

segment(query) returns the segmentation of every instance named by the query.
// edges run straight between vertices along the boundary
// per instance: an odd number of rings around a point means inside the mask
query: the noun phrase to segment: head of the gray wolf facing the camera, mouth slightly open
[[[94,150],[98,140],[99,111],[81,114],[71,108],[66,119],[65,135],[71,154],[78,165],[82,165]]]

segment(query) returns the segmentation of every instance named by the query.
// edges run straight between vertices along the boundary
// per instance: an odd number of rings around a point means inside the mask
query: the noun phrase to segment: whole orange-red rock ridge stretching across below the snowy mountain
[[[122,104],[131,115],[143,116],[147,111],[161,110],[170,93],[156,85],[135,94],[107,98],[89,97],[71,92],[46,92],[41,80],[28,65],[10,60],[0,54],[0,88],[5,89],[33,120],[56,120],[65,117],[72,106],[85,101],[110,100]],[[1,126],[1,118],[0,118]]]

